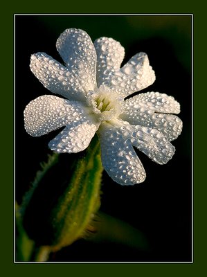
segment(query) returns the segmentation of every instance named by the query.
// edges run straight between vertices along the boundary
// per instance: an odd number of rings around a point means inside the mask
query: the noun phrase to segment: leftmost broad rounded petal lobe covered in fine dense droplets
[[[24,127],[31,136],[42,136],[69,123],[86,120],[86,111],[78,101],[45,95],[28,103]]]

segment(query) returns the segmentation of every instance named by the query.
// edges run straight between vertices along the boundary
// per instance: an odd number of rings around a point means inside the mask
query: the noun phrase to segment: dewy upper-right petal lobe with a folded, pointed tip
[[[111,87],[123,98],[153,84],[155,74],[147,54],[134,55],[120,70],[115,71],[103,83]]]

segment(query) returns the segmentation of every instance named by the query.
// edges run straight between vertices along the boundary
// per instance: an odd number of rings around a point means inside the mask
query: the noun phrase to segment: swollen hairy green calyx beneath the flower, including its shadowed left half
[[[100,206],[102,169],[97,136],[80,154],[49,157],[21,205],[24,229],[38,250],[30,259],[44,260],[48,249],[84,237]]]

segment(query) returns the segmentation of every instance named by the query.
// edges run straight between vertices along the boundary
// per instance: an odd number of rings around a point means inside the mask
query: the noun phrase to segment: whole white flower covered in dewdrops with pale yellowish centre
[[[74,153],[87,148],[97,132],[102,165],[118,184],[145,180],[145,170],[133,148],[156,163],[174,154],[170,141],[179,136],[179,103],[159,92],[127,96],[155,80],[145,53],[138,53],[120,68],[125,51],[114,39],[101,37],[94,44],[87,33],[67,29],[57,39],[65,66],[46,53],[31,56],[30,69],[40,82],[64,98],[45,95],[31,101],[25,111],[25,128],[42,136],[65,126],[49,148]],[[66,99],[65,99],[66,98]]]

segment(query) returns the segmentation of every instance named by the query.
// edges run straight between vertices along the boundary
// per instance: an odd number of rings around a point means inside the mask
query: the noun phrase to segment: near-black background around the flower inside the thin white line
[[[104,172],[100,210],[142,231],[150,253],[115,242],[79,240],[51,256],[52,261],[191,261],[192,240],[192,88],[190,16],[16,16],[15,20],[15,152],[17,202],[46,161],[48,134],[33,138],[24,130],[28,102],[51,92],[29,69],[30,55],[42,51],[62,61],[55,42],[66,28],[82,28],[92,40],[113,37],[125,47],[125,62],[147,53],[156,73],[152,86],[181,104],[183,132],[172,144],[176,153],[160,166],[138,152],[147,178],[143,184],[120,186]],[[66,154],[64,154],[66,155]],[[72,157],[72,156],[71,156]],[[58,175],[58,172],[57,172]]]

